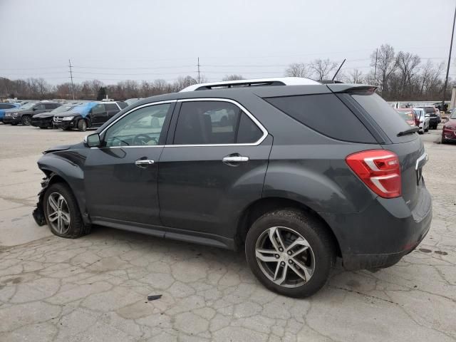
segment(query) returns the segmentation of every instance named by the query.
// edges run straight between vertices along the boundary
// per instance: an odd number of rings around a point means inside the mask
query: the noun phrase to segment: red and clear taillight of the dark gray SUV
[[[367,150],[346,157],[348,166],[375,194],[384,198],[401,194],[399,158],[387,150]]]

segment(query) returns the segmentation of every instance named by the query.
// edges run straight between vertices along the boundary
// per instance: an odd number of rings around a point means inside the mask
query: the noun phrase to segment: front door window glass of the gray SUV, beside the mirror
[[[170,103],[150,105],[135,110],[108,128],[105,147],[153,146],[164,138],[163,125],[170,111]]]

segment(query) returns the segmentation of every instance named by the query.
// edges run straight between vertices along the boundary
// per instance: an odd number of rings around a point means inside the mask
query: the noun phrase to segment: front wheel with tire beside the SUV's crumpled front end
[[[88,233],[68,185],[55,183],[48,187],[43,197],[43,211],[51,232],[58,237],[76,239]]]

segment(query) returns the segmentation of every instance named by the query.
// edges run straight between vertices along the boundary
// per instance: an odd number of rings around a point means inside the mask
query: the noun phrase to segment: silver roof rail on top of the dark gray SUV
[[[180,90],[194,91],[194,90],[211,90],[220,88],[237,88],[237,87],[251,87],[251,86],[298,86],[309,84],[321,84],[310,78],[302,77],[276,77],[276,78],[257,78],[252,80],[236,80],[236,81],[220,81],[212,83],[194,84]]]

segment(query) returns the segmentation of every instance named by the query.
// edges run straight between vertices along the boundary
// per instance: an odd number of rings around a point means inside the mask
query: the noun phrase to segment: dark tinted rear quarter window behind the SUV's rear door
[[[351,142],[375,142],[366,126],[334,94],[284,96],[264,100],[303,125],[330,138]],[[400,118],[397,113],[395,115]]]

